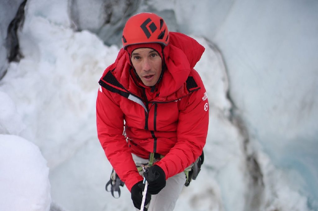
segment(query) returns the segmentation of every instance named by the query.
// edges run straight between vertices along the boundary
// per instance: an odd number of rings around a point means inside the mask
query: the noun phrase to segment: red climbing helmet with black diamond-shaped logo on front
[[[129,18],[122,33],[124,48],[128,45],[151,42],[168,45],[169,31],[164,20],[155,13],[149,12]]]

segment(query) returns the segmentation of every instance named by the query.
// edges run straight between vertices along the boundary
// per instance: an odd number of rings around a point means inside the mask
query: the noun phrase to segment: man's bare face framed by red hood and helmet
[[[157,83],[162,71],[162,60],[157,51],[138,48],[132,52],[131,62],[143,84],[153,86]]]

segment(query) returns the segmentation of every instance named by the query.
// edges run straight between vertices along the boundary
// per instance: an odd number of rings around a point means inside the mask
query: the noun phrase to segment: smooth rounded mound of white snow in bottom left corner
[[[39,148],[19,136],[0,134],[0,149],[1,210],[49,211],[49,168]]]

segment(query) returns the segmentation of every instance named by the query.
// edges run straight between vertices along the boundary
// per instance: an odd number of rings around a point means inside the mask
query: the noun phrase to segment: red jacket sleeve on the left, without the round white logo
[[[142,180],[123,133],[124,114],[109,91],[100,87],[96,100],[97,135],[108,161],[128,190]]]

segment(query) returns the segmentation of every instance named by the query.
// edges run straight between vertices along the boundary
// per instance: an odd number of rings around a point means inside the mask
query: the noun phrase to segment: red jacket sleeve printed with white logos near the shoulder
[[[169,153],[156,163],[165,172],[166,179],[192,164],[202,154],[206,142],[209,104],[203,84],[201,89],[194,91],[184,100],[186,105],[179,112],[177,142]]]

